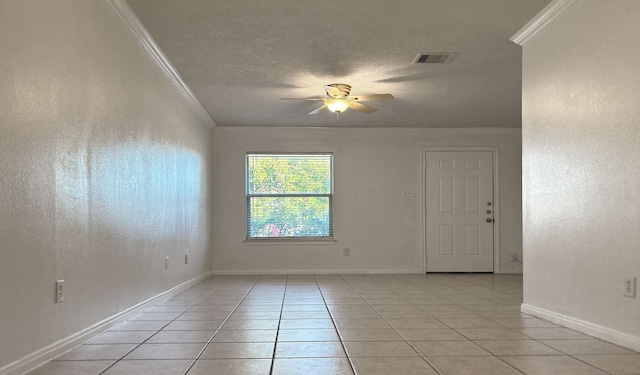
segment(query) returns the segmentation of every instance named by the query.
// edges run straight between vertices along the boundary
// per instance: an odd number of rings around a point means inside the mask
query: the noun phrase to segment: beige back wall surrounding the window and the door
[[[354,114],[360,115],[360,114]],[[347,116],[341,117],[340,121]],[[422,147],[495,146],[500,153],[501,272],[521,272],[520,132],[438,129],[232,128],[214,131],[213,270],[217,273],[422,272]],[[329,245],[245,245],[246,152],[334,153]],[[351,256],[342,255],[350,248]]]

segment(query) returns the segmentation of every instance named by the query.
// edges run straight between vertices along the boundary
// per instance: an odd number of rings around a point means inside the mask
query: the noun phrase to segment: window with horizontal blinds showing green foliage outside
[[[331,238],[333,155],[247,154],[247,238]]]

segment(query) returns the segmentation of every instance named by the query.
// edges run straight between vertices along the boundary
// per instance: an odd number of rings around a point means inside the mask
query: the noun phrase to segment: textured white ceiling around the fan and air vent
[[[549,0],[128,0],[218,126],[520,127],[521,48]],[[449,64],[412,64],[454,52]],[[323,85],[391,93],[307,113]]]

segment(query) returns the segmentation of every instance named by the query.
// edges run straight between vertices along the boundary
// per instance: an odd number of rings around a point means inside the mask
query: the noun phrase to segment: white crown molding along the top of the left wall
[[[122,22],[127,25],[129,30],[133,33],[135,38],[144,46],[147,50],[153,61],[160,67],[162,72],[169,78],[171,83],[178,89],[178,92],[189,102],[194,111],[198,114],[200,119],[204,121],[205,124],[210,129],[214,129],[216,127],[215,122],[209,115],[206,109],[202,106],[202,103],[193,95],[193,92],[187,86],[187,84],[182,80],[180,74],[176,68],[171,64],[167,56],[165,56],[164,52],[160,49],[158,44],[149,31],[144,27],[142,22],[136,14],[133,12],[129,4],[125,0],[105,0],[107,4],[113,9],[113,11],[120,17]]]

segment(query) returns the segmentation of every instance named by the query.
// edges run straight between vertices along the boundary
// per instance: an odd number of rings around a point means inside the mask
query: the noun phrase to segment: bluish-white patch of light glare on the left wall
[[[56,216],[134,241],[162,242],[176,231],[194,236],[189,229],[200,220],[202,169],[198,153],[170,144],[118,142],[59,154]]]

